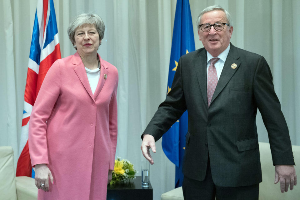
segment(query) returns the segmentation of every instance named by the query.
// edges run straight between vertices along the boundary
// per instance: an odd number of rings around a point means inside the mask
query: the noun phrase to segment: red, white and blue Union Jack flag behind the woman
[[[28,125],[32,107],[45,75],[61,58],[53,0],[37,0],[24,94],[22,133],[16,176],[34,178],[28,150]]]

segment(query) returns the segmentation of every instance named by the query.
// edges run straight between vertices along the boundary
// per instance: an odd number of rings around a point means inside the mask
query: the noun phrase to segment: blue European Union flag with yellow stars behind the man
[[[168,91],[171,90],[174,74],[179,58],[191,51],[195,51],[192,16],[188,0],[177,0],[171,58],[168,77]],[[176,165],[175,188],[181,187],[183,182],[182,162],[185,149],[185,134],[187,133],[187,111],[163,135],[163,151],[169,160]]]

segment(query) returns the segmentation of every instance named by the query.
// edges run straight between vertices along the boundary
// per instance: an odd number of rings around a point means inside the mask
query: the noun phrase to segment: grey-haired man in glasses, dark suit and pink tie
[[[230,43],[233,27],[220,6],[197,20],[204,48],[182,56],[172,89],[142,135],[144,157],[188,111],[183,160],[185,199],[258,199],[262,182],[257,108],[267,128],[281,192],[297,184],[291,141],[266,60]]]

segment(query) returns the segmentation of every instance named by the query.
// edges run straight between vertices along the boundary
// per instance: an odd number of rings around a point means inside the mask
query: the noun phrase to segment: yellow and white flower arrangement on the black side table
[[[120,157],[117,157],[115,160],[115,166],[113,169],[113,179],[110,184],[115,183],[129,183],[130,180],[135,179],[135,174],[138,173],[137,170],[134,170],[133,164],[127,159],[120,160]]]

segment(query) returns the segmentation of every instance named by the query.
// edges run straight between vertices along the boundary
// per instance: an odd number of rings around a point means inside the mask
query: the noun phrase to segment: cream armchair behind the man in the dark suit
[[[292,145],[294,160],[296,163],[295,169],[299,176],[300,174],[300,146]],[[275,168],[272,167],[272,156],[269,143],[259,143],[260,161],[262,165],[262,183],[259,184],[259,199],[260,200],[282,200],[282,199],[299,199],[300,185],[294,187],[292,191],[280,192],[280,185],[274,185]],[[299,178],[298,178],[299,179]],[[166,193],[163,193],[161,200],[183,200],[182,187],[178,187]]]

